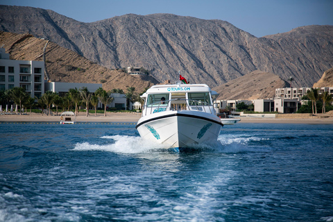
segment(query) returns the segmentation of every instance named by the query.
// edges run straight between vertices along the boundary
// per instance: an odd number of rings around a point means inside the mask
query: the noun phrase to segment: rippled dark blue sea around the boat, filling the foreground
[[[185,153],[135,123],[0,135],[0,221],[333,221],[332,125],[237,123]]]

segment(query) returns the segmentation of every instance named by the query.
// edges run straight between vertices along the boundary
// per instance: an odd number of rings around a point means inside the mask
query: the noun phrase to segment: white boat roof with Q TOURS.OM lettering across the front
[[[162,94],[173,92],[211,92],[212,96],[219,95],[217,92],[212,91],[208,85],[205,84],[181,84],[181,85],[153,85],[141,97],[146,98],[148,94]]]

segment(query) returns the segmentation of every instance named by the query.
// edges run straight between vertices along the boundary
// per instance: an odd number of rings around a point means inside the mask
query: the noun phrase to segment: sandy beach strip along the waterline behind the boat
[[[79,113],[76,122],[137,122],[141,113],[121,113],[109,112],[106,117],[104,114],[90,114],[88,117],[85,113]],[[296,124],[333,124],[333,117],[327,118],[272,118],[272,117],[237,117],[241,119],[239,123],[296,123]],[[46,114],[1,114],[0,122],[55,122],[60,121],[60,115],[47,116]],[[237,123],[237,124],[239,124]],[[237,125],[236,124],[236,125]]]

